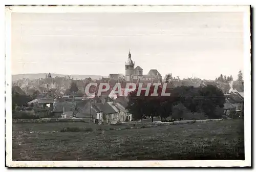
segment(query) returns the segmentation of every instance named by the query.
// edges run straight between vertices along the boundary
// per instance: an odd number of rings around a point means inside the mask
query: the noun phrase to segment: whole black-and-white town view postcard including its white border
[[[250,6],[5,12],[7,166],[251,166]]]

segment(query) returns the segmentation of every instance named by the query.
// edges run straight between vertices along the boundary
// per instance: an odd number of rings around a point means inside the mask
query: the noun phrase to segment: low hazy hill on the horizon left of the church
[[[45,78],[48,73],[38,73],[38,74],[16,74],[12,75],[12,81],[22,79],[22,78],[28,78],[28,79],[38,79],[38,78]],[[52,77],[55,78],[56,76],[59,77],[65,77],[68,75],[62,75],[62,74],[54,74],[51,73]],[[99,79],[106,76],[100,76],[100,75],[69,75],[70,78],[74,79],[85,79],[85,78],[92,78],[92,79]]]

